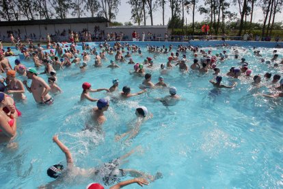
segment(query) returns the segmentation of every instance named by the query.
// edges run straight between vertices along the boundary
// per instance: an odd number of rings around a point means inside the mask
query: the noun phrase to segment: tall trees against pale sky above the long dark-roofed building
[[[70,15],[104,16],[110,22],[118,13],[120,0],[2,0],[0,21],[68,18]]]

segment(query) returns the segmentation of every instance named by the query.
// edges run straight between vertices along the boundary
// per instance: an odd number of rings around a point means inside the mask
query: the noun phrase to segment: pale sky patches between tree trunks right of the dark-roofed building
[[[128,1],[128,0],[121,0],[121,5],[119,6],[118,15],[116,15],[116,21],[123,23],[123,24],[125,22],[131,21],[131,5],[129,5],[129,3],[126,3],[126,1]],[[198,4],[200,5],[201,2],[202,2],[202,0],[200,0],[200,3],[198,3]],[[235,6],[234,6],[234,10],[236,10],[238,12],[238,10]],[[169,5],[167,4],[165,6],[165,25],[167,25],[170,16],[171,16],[171,10],[170,10]],[[282,16],[283,16],[283,14],[276,14],[275,15],[275,22],[282,21]],[[187,12],[185,12],[185,18],[187,18],[188,24],[192,22],[192,14],[187,14]],[[253,16],[253,22],[261,22],[262,19],[263,19],[262,10],[260,8],[255,8],[254,16]],[[195,15],[195,21],[203,21],[203,20],[204,20],[204,16],[200,15],[197,12],[196,15]],[[250,18],[247,17],[247,20],[250,21]],[[133,23],[133,21],[131,21],[131,23]],[[135,24],[135,25],[137,25],[137,24]],[[149,14],[148,14],[148,18],[146,20],[146,25],[150,25]],[[162,10],[161,10],[161,8],[154,11],[153,25],[162,25]]]

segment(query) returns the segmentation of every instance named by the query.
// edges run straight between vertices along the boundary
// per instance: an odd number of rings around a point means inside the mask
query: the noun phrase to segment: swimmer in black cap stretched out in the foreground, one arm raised
[[[152,176],[141,171],[120,168],[120,165],[124,163],[124,160],[131,154],[133,154],[135,150],[132,150],[129,153],[126,153],[125,155],[122,155],[121,157],[118,157],[109,163],[104,163],[103,166],[97,168],[79,168],[74,164],[72,153],[70,153],[68,147],[66,147],[66,145],[59,140],[57,135],[53,136],[53,142],[55,142],[59,149],[61,149],[61,151],[65,154],[67,165],[66,168],[64,168],[64,165],[61,163],[49,167],[47,169],[47,175],[54,178],[55,180],[44,186],[39,186],[38,188],[54,188],[63,181],[77,181],[77,179],[89,177],[101,177],[105,185],[113,184],[114,182],[119,181],[120,177],[126,176],[127,174],[134,175],[134,177],[144,177],[146,179],[149,179],[150,181],[162,178],[162,174],[159,172],[157,173],[157,175]]]

